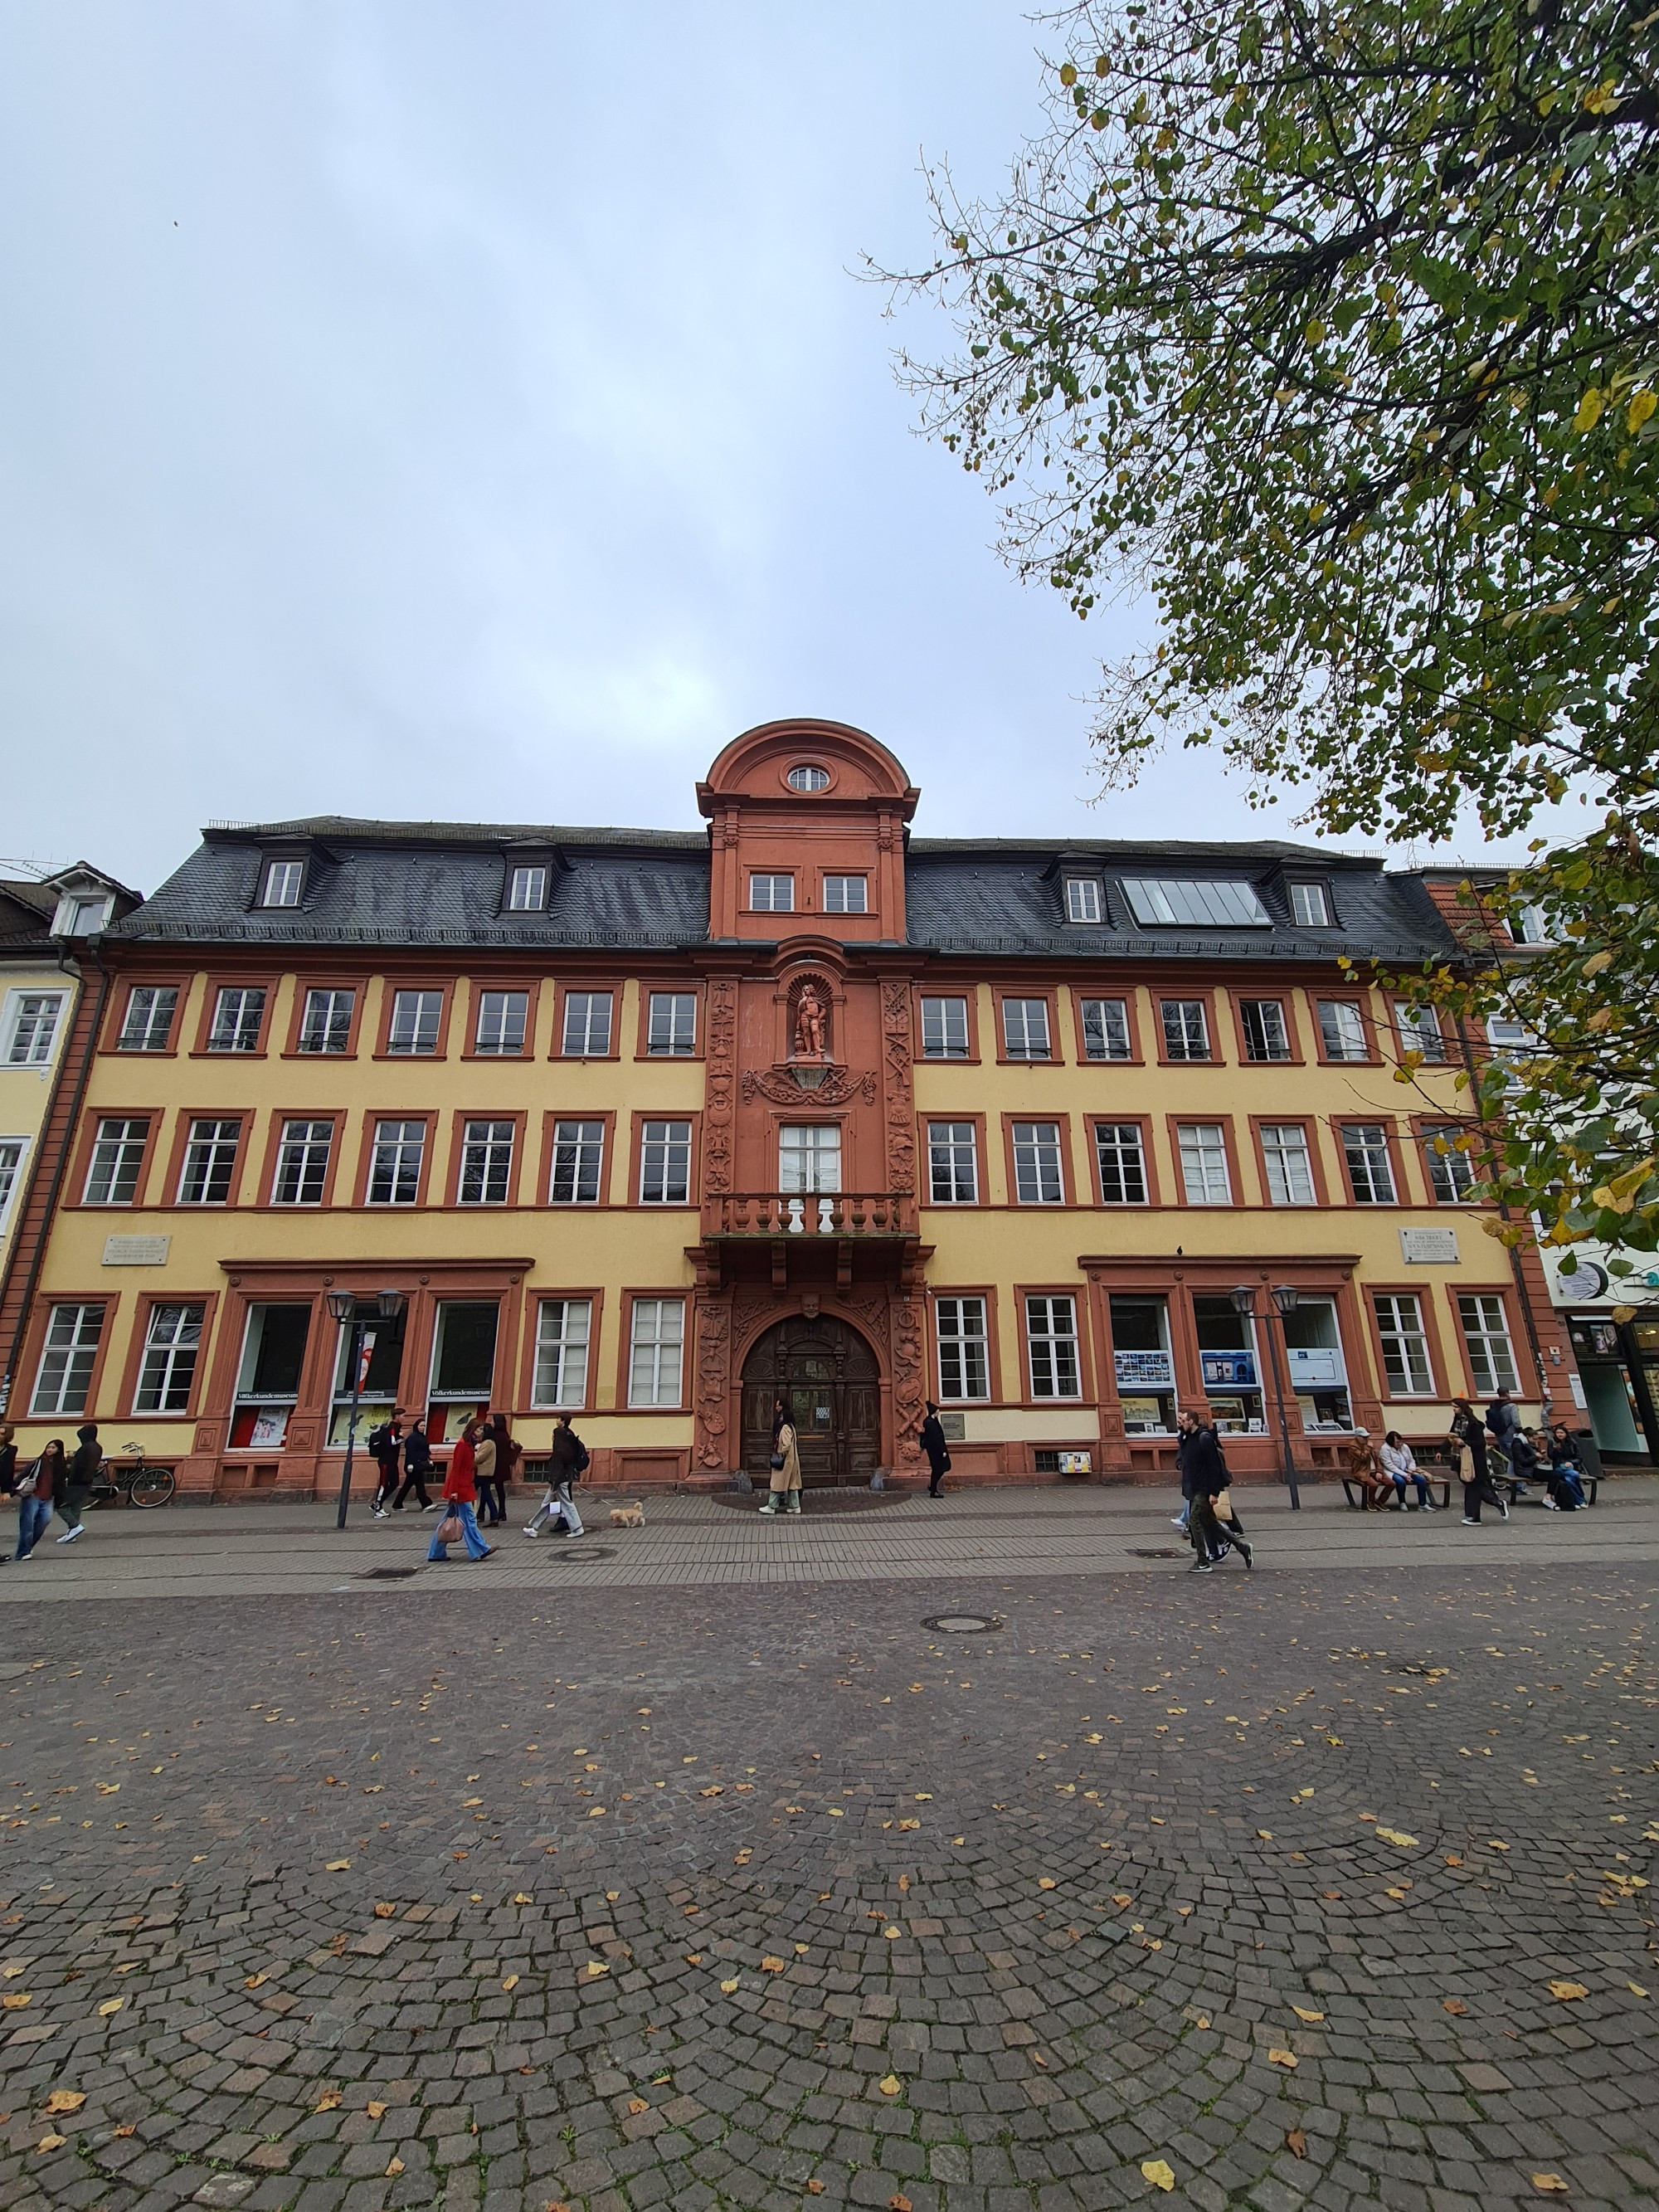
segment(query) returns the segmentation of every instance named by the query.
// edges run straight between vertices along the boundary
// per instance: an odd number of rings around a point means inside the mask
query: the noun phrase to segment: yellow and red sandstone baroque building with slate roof
[[[821,1482],[914,1473],[927,1398],[967,1480],[1168,1478],[1177,1405],[1265,1480],[1566,1400],[1442,1133],[1469,1046],[1360,980],[1455,953],[1420,878],[927,841],[918,796],[781,721],[706,832],[204,832],[75,1011],[24,1449],[93,1416],[186,1491],[330,1491],[327,1301],[383,1290],[365,1427],[487,1402],[535,1455],[568,1409],[626,1486],[763,1471],[779,1398]]]

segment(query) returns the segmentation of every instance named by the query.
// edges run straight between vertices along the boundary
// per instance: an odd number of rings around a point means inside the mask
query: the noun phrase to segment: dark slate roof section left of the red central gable
[[[252,902],[272,852],[305,854],[299,907]],[[549,863],[544,914],[502,909],[509,856]],[[367,823],[338,814],[212,827],[111,936],[219,945],[701,945],[708,834]]]

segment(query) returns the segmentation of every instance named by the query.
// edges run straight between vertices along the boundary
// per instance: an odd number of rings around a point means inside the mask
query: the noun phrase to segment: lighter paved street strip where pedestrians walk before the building
[[[619,1588],[708,1588],[712,1584],[823,1584],[1150,1573],[1186,1564],[1170,1528],[1172,1491],[1135,1486],[947,1491],[869,1513],[807,1511],[794,1520],[734,1513],[710,1498],[646,1500],[644,1528],[608,1524],[619,1500],[582,1493],[588,1535],[524,1542],[520,1526],[540,1491],[513,1500],[500,1551],[478,1568],[425,1566],[431,1522],[416,1513],[369,1520],[356,1502],[345,1531],[316,1504],[166,1506],[102,1511],[69,1546],[51,1542],[27,1566],[0,1571],[0,1608],[40,1599],[265,1597],[338,1590],[392,1571],[385,1588],[438,1595],[456,1582],[551,1595],[566,1584]],[[1467,1568],[1489,1555],[1509,1564],[1659,1564],[1659,1480],[1619,1475],[1593,1513],[1546,1513],[1537,1498],[1511,1520],[1489,1513],[1462,1528],[1458,1513],[1354,1513],[1338,1484],[1303,1491],[1292,1513],[1276,1486],[1239,1493],[1259,1546],[1259,1571],[1281,1568]]]

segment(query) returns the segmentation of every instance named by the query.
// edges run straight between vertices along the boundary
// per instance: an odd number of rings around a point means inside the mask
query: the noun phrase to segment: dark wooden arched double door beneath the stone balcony
[[[772,1400],[801,1438],[801,1482],[869,1482],[880,1464],[880,1369],[845,1321],[796,1314],[750,1345],[743,1360],[743,1467],[765,1482]]]

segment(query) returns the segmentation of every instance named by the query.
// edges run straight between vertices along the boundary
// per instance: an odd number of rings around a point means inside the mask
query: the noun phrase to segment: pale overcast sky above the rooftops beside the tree
[[[918,832],[1294,834],[1192,757],[1088,807],[1128,617],[995,560],[854,274],[1037,93],[1013,0],[11,0],[0,854],[692,825],[779,714]]]

